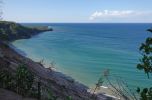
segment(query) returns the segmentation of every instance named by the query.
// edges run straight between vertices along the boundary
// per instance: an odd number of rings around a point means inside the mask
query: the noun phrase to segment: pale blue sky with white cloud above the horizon
[[[152,23],[152,0],[3,0],[3,19],[43,23]]]

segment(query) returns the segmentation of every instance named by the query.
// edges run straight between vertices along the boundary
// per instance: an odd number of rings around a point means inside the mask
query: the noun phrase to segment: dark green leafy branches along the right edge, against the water
[[[148,31],[152,33],[152,29],[148,29]],[[142,59],[137,68],[143,70],[149,79],[152,75],[152,37],[148,37],[145,43],[142,43],[140,51]],[[141,100],[152,100],[152,87],[144,89],[138,87],[137,92],[140,94]]]

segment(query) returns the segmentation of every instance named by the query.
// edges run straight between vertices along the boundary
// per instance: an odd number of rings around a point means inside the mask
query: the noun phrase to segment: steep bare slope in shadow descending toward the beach
[[[11,71],[11,73],[14,73],[18,68],[19,64],[26,64],[27,68],[36,77],[41,79],[42,84],[45,84],[47,88],[51,88],[52,92],[55,93],[54,95],[57,95],[59,98],[66,98],[66,96],[69,95],[79,100],[87,100],[85,98],[91,100],[89,99],[89,97],[91,97],[91,94],[86,91],[87,88],[84,85],[80,85],[70,79],[65,78],[65,76],[59,72],[44,68],[43,65],[34,62],[25,56],[20,55],[11,47],[5,47],[5,44],[3,43],[0,45],[0,51],[2,54],[2,56],[0,57],[0,64],[2,64],[2,68],[4,64],[4,68],[6,67],[8,68],[8,70]],[[7,62],[10,62],[8,66],[5,65],[5,63]]]

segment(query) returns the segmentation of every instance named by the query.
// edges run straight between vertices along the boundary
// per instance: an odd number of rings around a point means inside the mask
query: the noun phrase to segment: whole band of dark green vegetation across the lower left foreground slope
[[[52,89],[43,83],[35,76],[27,66],[21,64],[16,69],[15,73],[9,72],[9,69],[0,69],[0,88],[14,91],[25,97],[34,97],[38,100],[57,100]],[[47,91],[42,90],[45,89]],[[46,93],[47,97],[42,96]],[[72,100],[71,96],[67,96],[65,100]]]

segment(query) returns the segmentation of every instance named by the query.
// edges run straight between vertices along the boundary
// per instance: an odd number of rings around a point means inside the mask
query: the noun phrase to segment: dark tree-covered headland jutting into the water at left
[[[15,22],[0,21],[0,39],[5,41],[30,38],[33,35],[45,31],[52,31],[52,29],[40,26],[25,27]]]

